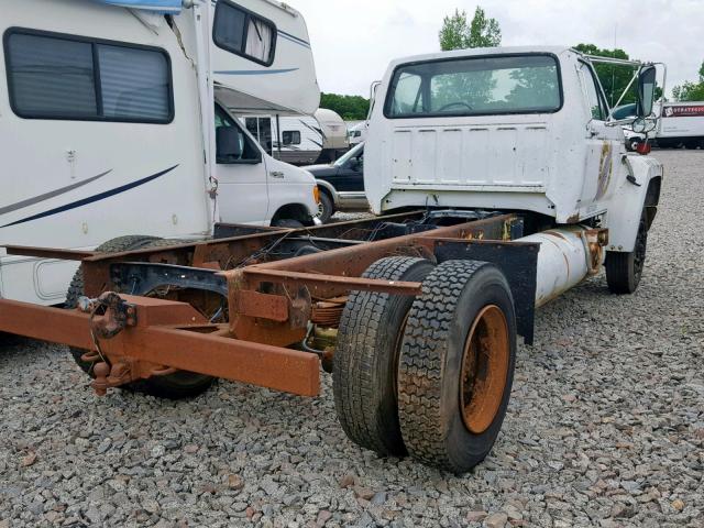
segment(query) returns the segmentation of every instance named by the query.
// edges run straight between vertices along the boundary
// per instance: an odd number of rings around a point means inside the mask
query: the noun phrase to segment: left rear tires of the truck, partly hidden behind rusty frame
[[[96,251],[101,253],[119,253],[122,251],[141,250],[144,248],[154,248],[158,245],[173,245],[175,241],[163,240],[156,237],[146,235],[128,235],[112,239],[98,248]],[[118,292],[119,293],[119,292]],[[66,308],[75,309],[78,305],[78,298],[84,295],[84,274],[82,268],[78,268],[74,275],[74,279],[68,288],[66,295]],[[81,356],[87,352],[82,349],[69,348],[74,361],[80,369],[94,376],[92,362],[82,361]],[[196,374],[193,372],[179,371],[167,376],[154,376],[148,380],[140,380],[121,386],[120,388],[127,388],[130,391],[139,391],[152,396],[157,396],[168,399],[183,399],[198,396],[206,392],[215,381],[211,376],[202,374]]]

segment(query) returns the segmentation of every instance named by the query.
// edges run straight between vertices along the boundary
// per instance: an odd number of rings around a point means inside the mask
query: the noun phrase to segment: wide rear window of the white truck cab
[[[402,65],[384,108],[387,118],[556,112],[562,106],[552,55],[493,55]]]

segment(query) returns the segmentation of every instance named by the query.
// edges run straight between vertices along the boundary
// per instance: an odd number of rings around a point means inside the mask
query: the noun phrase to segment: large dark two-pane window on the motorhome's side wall
[[[22,118],[173,119],[170,65],[162,50],[11,30],[6,58],[10,103]]]

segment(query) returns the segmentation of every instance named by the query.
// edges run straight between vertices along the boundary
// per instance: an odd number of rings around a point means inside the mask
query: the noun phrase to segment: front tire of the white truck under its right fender
[[[629,253],[606,252],[606,284],[612,294],[632,294],[640,284],[648,250],[648,221],[645,211],[640,215],[636,248]]]

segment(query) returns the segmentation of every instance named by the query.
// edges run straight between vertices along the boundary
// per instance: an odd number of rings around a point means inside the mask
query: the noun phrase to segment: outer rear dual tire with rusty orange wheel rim
[[[504,274],[477,261],[440,264],[422,289],[398,364],[402,435],[413,458],[460,474],[486,458],[506,415],[516,363],[514,301]]]

